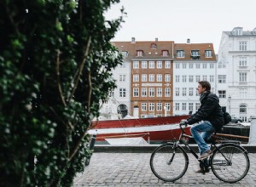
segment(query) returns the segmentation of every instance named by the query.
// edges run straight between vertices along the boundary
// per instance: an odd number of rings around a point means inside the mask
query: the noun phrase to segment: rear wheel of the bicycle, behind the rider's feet
[[[236,183],[247,175],[250,161],[246,150],[239,144],[223,144],[213,152],[211,167],[218,179]]]

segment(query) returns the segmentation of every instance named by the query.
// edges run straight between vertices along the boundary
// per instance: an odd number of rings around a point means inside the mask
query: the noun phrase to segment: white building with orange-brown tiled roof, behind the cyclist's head
[[[173,61],[173,115],[195,113],[201,105],[199,81],[216,91],[216,55],[212,43],[176,43]]]

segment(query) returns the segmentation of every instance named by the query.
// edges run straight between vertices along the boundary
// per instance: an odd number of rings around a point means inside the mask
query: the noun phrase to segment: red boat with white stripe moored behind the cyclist
[[[122,119],[93,122],[90,134],[97,134],[96,143],[106,144],[106,139],[141,137],[150,144],[178,139],[179,122],[189,116],[164,116],[139,119]],[[186,132],[190,134],[189,127]],[[116,141],[116,140],[114,140]]]

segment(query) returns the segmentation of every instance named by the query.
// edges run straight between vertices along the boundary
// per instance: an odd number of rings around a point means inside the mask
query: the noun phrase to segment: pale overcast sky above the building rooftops
[[[256,0],[120,0],[106,17],[120,16],[124,6],[125,23],[113,41],[212,42],[218,54],[222,31],[236,26],[244,31],[256,27]]]

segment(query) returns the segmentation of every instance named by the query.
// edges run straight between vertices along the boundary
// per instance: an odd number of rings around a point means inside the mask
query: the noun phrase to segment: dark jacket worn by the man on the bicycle
[[[190,116],[187,120],[189,124],[195,122],[209,121],[216,131],[220,131],[224,126],[224,116],[221,106],[218,104],[219,99],[216,94],[209,93],[201,100],[201,106],[194,115]]]

